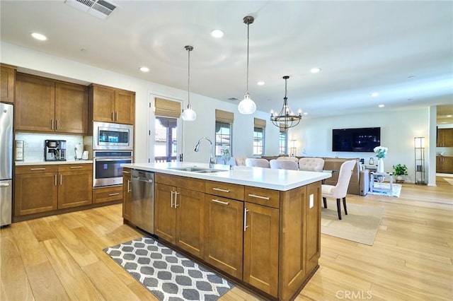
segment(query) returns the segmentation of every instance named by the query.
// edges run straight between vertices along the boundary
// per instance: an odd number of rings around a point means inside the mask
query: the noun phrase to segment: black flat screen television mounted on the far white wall
[[[381,128],[333,129],[332,151],[373,152],[381,145]]]

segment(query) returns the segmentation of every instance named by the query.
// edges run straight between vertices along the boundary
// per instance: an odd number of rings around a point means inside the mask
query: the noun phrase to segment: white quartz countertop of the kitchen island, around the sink
[[[311,184],[331,177],[329,172],[306,172],[299,170],[276,170],[271,168],[233,166],[230,170],[229,165],[215,165],[214,169],[224,170],[214,173],[188,172],[185,170],[172,170],[173,167],[202,167],[208,168],[207,163],[132,163],[122,164],[135,170],[145,170],[149,172],[161,172],[168,175],[178,175],[182,177],[192,177],[195,179],[207,179],[210,181],[241,184],[251,187],[260,187],[287,191],[297,187]]]

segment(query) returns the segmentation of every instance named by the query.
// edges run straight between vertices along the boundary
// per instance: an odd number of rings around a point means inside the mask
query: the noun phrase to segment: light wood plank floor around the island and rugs
[[[296,300],[452,300],[453,186],[403,184],[399,198],[348,196],[384,207],[372,247],[322,235],[320,268]],[[0,230],[0,300],[155,300],[103,248],[140,237],[121,205]],[[259,300],[235,287],[222,300]]]

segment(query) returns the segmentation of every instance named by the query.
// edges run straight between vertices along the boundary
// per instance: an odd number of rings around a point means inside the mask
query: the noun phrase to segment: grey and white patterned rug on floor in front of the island
[[[103,251],[159,300],[217,300],[234,286],[149,237]]]

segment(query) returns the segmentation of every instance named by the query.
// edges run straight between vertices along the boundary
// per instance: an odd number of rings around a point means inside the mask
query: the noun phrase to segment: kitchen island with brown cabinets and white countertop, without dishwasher
[[[292,300],[316,272],[321,181],[330,174],[202,163],[122,165],[154,172],[154,235],[272,300]],[[134,189],[132,187],[132,189]],[[130,220],[123,203],[123,217]]]

